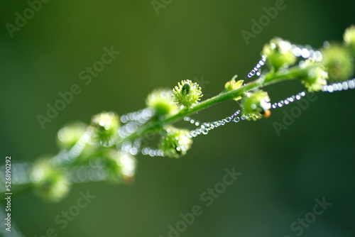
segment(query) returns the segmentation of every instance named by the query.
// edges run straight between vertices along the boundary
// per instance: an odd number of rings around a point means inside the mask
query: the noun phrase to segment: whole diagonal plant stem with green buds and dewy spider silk
[[[247,87],[239,89],[244,84],[244,80],[236,81],[236,77],[233,77],[224,85],[222,97],[224,93],[230,93],[222,98],[221,101],[226,98],[231,99],[229,96],[234,94],[233,99],[239,101],[241,106],[241,118],[256,121],[257,118],[271,115],[271,100],[270,97],[268,97],[268,93],[261,89],[250,91],[251,88],[259,88],[265,85],[263,82],[270,83],[273,82],[272,79],[280,79],[280,77],[285,77],[282,79],[296,77],[300,79],[309,92],[317,92],[327,84],[327,80],[337,82],[349,79],[354,74],[355,26],[346,29],[344,33],[344,44],[325,43],[324,48],[321,50],[322,55],[314,50],[308,51],[306,47],[305,52],[307,54],[302,55],[305,60],[299,60],[298,65],[300,67],[293,67],[287,70],[288,67],[295,65],[297,57],[300,57],[300,55],[296,53],[297,50],[299,50],[299,48],[296,48],[295,45],[291,45],[290,42],[281,38],[273,38],[270,43],[264,45],[263,51],[261,52],[261,54],[265,56],[262,62],[266,60],[266,64],[269,67],[268,75],[261,75],[260,68],[263,63],[259,62],[259,64],[254,67],[253,71],[257,68],[257,75],[260,76],[260,78],[256,80],[256,82],[248,84]],[[314,56],[311,56],[311,51],[313,51],[312,55]],[[315,59],[315,57],[317,59]],[[268,81],[266,79],[268,79]],[[247,89],[249,91],[246,91]],[[137,137],[144,135],[144,132],[155,132],[157,131],[155,129],[160,131],[159,150],[156,154],[163,154],[170,158],[180,158],[191,148],[194,132],[197,134],[207,134],[209,129],[220,126],[220,122],[223,125],[224,121],[229,122],[232,118],[234,118],[234,121],[239,121],[239,117],[233,117],[236,116],[237,113],[235,113],[233,116],[227,117],[229,121],[227,121],[226,118],[222,121],[213,122],[213,127],[212,123],[203,123],[201,128],[197,128],[197,130],[192,131],[192,133],[186,129],[175,128],[168,125],[168,123],[175,118],[180,118],[192,112],[192,110],[194,110],[192,107],[199,103],[202,96],[202,89],[199,84],[189,79],[182,80],[173,90],[155,89],[151,92],[146,99],[146,105],[151,108],[148,109],[148,111],[150,111],[148,116],[144,116],[143,121],[139,120],[141,112],[132,113],[132,118],[131,115],[126,116],[126,119],[122,117],[122,123],[128,121],[129,123],[121,128],[120,133],[119,116],[113,112],[103,112],[93,116],[89,127],[84,123],[71,123],[61,128],[60,131],[58,131],[57,138],[57,143],[62,149],[61,153],[55,156],[55,158],[40,159],[33,165],[31,181],[33,182],[35,193],[50,202],[60,201],[70,190],[70,177],[74,182],[77,182],[73,174],[79,166],[80,168],[78,169],[83,168],[85,170],[88,168],[89,170],[87,171],[89,178],[78,178],[81,182],[88,180],[107,180],[112,183],[124,182],[125,184],[130,184],[134,180],[137,165],[133,155],[136,155],[139,151],[145,155],[144,150],[151,149],[141,149],[141,140]],[[214,99],[210,101],[215,102],[219,99],[219,97],[214,97]],[[195,110],[202,109],[201,107],[207,106],[207,104],[209,103],[200,104],[200,108],[195,107]],[[188,109],[191,110],[188,111]],[[154,112],[151,112],[152,110]],[[173,118],[168,116],[173,116]],[[127,119],[127,117],[129,117],[129,119]],[[137,119],[135,117],[137,117]],[[237,120],[235,120],[236,118]],[[147,127],[139,127],[150,119],[153,120],[153,123],[148,123]],[[136,121],[139,121],[139,123]],[[188,121],[195,123],[192,119]],[[132,131],[129,132],[129,134],[133,136],[129,137],[129,135],[126,135],[126,133],[122,131],[124,131],[124,128],[133,126],[133,123],[136,123],[135,128],[131,129]],[[216,126],[214,126],[214,124],[216,124]],[[195,125],[198,126],[197,122]],[[138,130],[138,128],[141,130]],[[202,128],[205,129],[206,132],[202,130]],[[127,131],[128,130],[127,128]],[[121,136],[119,134],[121,134]],[[124,145],[125,143],[126,145]],[[153,149],[151,149],[151,151],[152,150]],[[157,150],[153,150],[153,154],[151,154],[151,151],[149,155],[153,156]],[[92,159],[96,159],[96,161],[92,162]],[[62,162],[63,160],[69,162]],[[102,160],[103,162],[97,162],[98,160]],[[89,162],[89,165],[87,165],[86,162]],[[73,170],[75,172],[73,172]],[[99,175],[101,171],[103,175]],[[94,172],[98,172],[97,175],[102,176],[102,178],[96,179],[94,175],[92,175]],[[69,173],[70,175],[68,175]],[[92,177],[90,177],[90,174]]]

